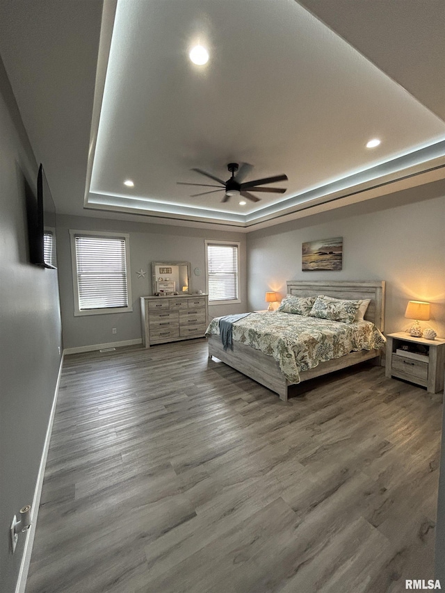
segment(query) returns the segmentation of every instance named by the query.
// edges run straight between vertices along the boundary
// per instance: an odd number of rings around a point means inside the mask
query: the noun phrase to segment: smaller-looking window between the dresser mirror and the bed
[[[207,292],[209,302],[222,304],[239,300],[239,243],[206,241]]]

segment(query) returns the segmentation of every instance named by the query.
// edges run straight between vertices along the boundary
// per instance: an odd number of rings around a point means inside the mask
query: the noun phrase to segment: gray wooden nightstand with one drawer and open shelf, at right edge
[[[422,350],[421,355],[410,350]],[[445,340],[414,338],[405,332],[387,335],[387,362],[385,375],[405,379],[422,387],[429,393],[444,389]]]

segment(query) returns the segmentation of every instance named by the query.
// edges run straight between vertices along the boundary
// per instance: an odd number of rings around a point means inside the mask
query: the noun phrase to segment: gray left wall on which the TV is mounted
[[[25,536],[9,528],[31,504],[60,364],[57,270],[29,263],[25,186],[37,163],[0,60],[0,583],[15,591]]]

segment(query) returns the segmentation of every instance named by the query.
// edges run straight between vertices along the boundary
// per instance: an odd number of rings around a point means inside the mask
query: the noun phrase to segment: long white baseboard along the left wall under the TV
[[[38,513],[39,513],[40,498],[42,496],[44,469],[47,464],[49,441],[51,440],[51,433],[53,431],[53,424],[54,424],[54,416],[56,414],[58,387],[60,384],[60,376],[62,375],[62,366],[63,366],[63,355],[60,359],[60,366],[58,368],[56,389],[54,390],[53,404],[51,406],[51,413],[49,414],[47,434],[44,439],[44,445],[43,445],[43,450],[42,450],[42,457],[40,459],[40,467],[39,467],[39,472],[38,472],[38,476],[37,476],[37,482],[35,483],[33,507],[32,507],[32,511],[31,511],[31,513],[32,513],[31,514],[31,527],[26,532],[26,540],[25,540],[25,544],[24,544],[22,562],[20,563],[19,578],[17,579],[17,585],[15,587],[15,593],[25,593],[25,589],[26,589],[26,578],[28,578],[29,564],[31,562],[31,553],[33,551],[35,526],[37,525],[37,517],[38,517]]]

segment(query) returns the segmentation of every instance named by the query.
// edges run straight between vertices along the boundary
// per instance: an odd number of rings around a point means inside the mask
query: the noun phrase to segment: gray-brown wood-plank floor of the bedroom
[[[433,578],[440,398],[366,365],[292,389],[204,339],[65,357],[26,593]]]

